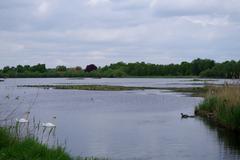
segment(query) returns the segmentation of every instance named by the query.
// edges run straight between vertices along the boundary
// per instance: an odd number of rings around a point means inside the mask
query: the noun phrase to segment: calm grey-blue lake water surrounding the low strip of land
[[[221,84],[224,80],[210,81]],[[159,91],[74,91],[17,88],[23,84],[108,84],[124,86],[191,87],[191,79],[7,79],[0,82],[1,110],[30,106],[31,116],[52,121],[56,136],[73,155],[113,160],[235,160],[239,137],[208,122],[181,119],[193,114],[201,98]],[[10,99],[6,99],[6,95]],[[20,96],[19,100],[14,97]],[[35,101],[36,99],[36,101]],[[32,105],[33,104],[33,105]]]

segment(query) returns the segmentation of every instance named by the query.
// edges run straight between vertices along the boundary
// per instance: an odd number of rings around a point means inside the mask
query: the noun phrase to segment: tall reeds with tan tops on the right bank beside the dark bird
[[[240,131],[240,86],[209,88],[207,96],[196,107],[195,113],[230,130]]]

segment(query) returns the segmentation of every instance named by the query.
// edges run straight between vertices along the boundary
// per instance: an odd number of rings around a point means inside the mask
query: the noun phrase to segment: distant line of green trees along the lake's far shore
[[[199,76],[209,78],[240,78],[240,60],[216,63],[210,59],[195,59],[192,62],[181,64],[150,64],[144,62],[118,62],[105,67],[96,67],[94,64],[85,69],[77,66],[67,68],[57,66],[47,69],[45,64],[6,66],[0,70],[2,78],[27,77],[184,77]]]

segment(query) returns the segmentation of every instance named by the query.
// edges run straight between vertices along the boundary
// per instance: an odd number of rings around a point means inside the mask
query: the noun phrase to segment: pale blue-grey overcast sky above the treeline
[[[239,0],[1,0],[0,67],[240,59]]]

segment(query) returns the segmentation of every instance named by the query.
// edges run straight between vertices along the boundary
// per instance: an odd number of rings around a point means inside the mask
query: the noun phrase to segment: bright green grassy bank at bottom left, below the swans
[[[100,160],[94,157],[72,158],[62,147],[49,148],[32,138],[19,139],[0,127],[0,160]]]

